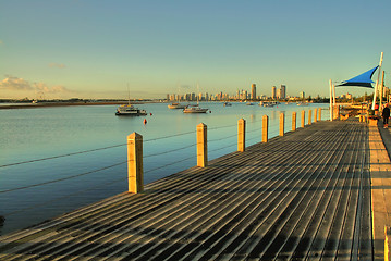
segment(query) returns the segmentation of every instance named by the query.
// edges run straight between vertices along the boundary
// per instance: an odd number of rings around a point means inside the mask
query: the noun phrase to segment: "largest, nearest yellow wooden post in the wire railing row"
[[[134,194],[144,190],[143,136],[137,133],[127,136],[127,190]]]

